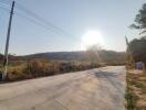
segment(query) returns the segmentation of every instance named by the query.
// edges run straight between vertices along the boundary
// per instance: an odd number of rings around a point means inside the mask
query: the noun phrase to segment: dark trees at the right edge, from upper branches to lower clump
[[[143,4],[142,9],[136,14],[131,28],[138,30],[140,35],[139,38],[134,38],[129,42],[132,56],[135,62],[146,64],[146,3]]]

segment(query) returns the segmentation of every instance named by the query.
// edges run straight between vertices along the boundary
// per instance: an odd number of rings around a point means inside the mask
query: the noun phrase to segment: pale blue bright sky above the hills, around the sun
[[[10,0],[1,7],[10,9]],[[10,41],[10,53],[17,55],[80,51],[85,33],[102,33],[105,50],[125,51],[125,38],[137,37],[137,31],[128,26],[145,0],[17,0],[18,3],[41,15],[55,26],[70,33],[61,34],[46,30],[14,14]],[[15,11],[19,11],[15,4]],[[23,12],[21,12],[23,14]],[[0,53],[3,53],[9,12],[0,8]]]

